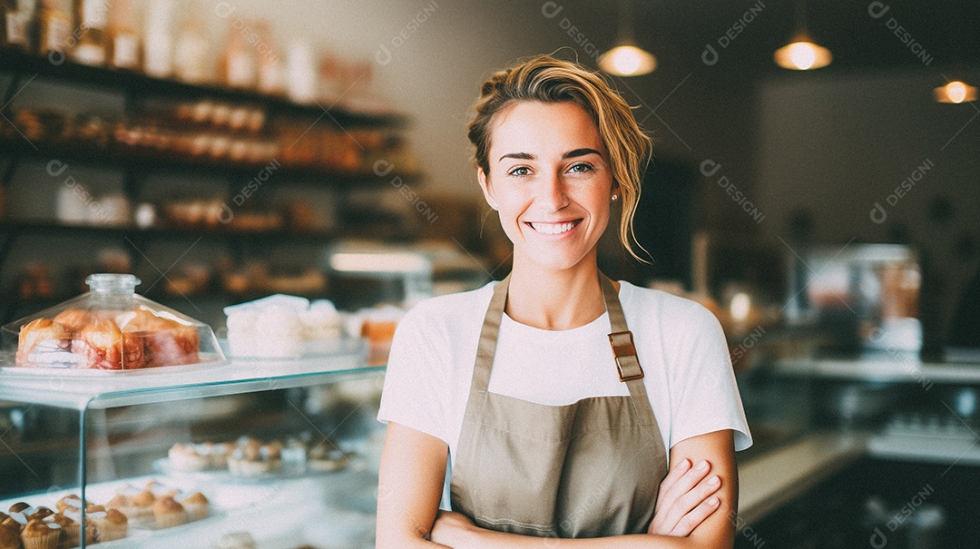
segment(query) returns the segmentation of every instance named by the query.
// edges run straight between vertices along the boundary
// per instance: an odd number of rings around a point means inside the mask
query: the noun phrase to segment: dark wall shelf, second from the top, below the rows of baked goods
[[[134,173],[189,172],[194,175],[213,175],[230,178],[232,182],[247,183],[256,175],[271,170],[270,162],[236,162],[211,160],[205,157],[181,156],[175,152],[159,153],[137,148],[85,147],[71,144],[29,142],[24,137],[0,137],[0,157],[17,156],[47,162],[57,159],[68,165],[83,165],[104,169],[123,169]],[[270,176],[288,176],[309,179],[321,184],[342,187],[388,184],[392,177],[400,176],[406,182],[420,179],[418,174],[375,175],[371,172],[345,172],[309,166],[277,165]]]

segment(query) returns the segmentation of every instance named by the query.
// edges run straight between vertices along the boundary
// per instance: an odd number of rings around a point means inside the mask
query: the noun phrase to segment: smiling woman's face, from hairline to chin
[[[574,103],[521,101],[497,114],[490,173],[478,176],[514,242],[515,264],[564,270],[595,260],[610,219],[608,159],[592,118]]]

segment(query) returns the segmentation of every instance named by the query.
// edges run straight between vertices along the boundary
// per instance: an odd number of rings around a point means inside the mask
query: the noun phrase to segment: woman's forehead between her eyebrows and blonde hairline
[[[491,130],[491,156],[513,152],[561,154],[583,147],[604,154],[606,150],[592,117],[571,102],[515,102],[497,113]]]

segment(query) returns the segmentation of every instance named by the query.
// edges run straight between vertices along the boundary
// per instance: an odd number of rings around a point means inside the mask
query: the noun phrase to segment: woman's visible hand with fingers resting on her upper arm
[[[718,498],[711,494],[721,487],[721,480],[709,475],[707,461],[695,468],[691,465],[691,460],[683,459],[663,478],[650,533],[686,536],[718,509]]]

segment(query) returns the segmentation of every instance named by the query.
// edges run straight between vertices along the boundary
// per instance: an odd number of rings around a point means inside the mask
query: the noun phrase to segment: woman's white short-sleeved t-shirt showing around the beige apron
[[[688,299],[619,283],[663,447],[669,451],[685,438],[720,429],[735,431],[736,450],[751,446],[725,336],[711,312]],[[378,420],[443,440],[453,460],[494,285],[418,303],[398,324],[391,345]],[[608,313],[567,330],[519,324],[505,314],[488,390],[553,406],[628,395],[610,331]]]

